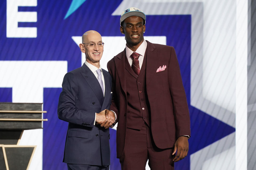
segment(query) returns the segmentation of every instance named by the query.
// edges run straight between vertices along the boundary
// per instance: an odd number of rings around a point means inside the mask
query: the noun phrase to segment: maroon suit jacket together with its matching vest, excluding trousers
[[[163,65],[166,69],[157,72]],[[110,110],[118,121],[117,158],[123,154],[127,128],[140,130],[147,124],[160,149],[174,147],[179,136],[190,136],[186,94],[173,47],[147,41],[139,76],[131,69],[125,50],[107,68],[113,81]]]

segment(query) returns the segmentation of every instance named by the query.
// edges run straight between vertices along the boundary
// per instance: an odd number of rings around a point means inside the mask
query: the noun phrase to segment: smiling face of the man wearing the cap
[[[127,47],[136,51],[144,40],[143,32],[145,32],[145,29],[146,27],[143,25],[141,17],[130,16],[126,18],[120,27],[120,31],[125,34]]]

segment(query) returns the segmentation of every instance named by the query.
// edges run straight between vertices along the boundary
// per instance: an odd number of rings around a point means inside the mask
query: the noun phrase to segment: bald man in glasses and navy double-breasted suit
[[[100,66],[103,45],[97,31],[85,32],[79,44],[85,63],[63,79],[58,117],[69,122],[63,158],[69,170],[109,169],[109,127],[115,116],[105,117],[112,92],[111,76]]]

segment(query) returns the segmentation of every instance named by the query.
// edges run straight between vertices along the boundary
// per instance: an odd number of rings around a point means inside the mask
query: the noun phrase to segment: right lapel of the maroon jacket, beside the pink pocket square
[[[146,85],[151,81],[154,72],[156,71],[154,68],[155,60],[158,58],[157,50],[155,50],[154,44],[147,41],[147,59],[146,59]]]

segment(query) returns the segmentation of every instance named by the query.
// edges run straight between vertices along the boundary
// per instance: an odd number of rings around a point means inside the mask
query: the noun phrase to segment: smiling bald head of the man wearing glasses
[[[82,42],[79,44],[80,50],[85,53],[86,61],[99,68],[99,60],[103,54],[103,46],[99,47],[97,43],[102,42],[101,34],[97,31],[87,31],[83,34]],[[95,43],[94,47],[90,47],[89,43]],[[85,44],[84,44],[85,43]]]

